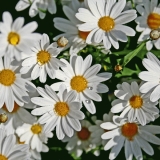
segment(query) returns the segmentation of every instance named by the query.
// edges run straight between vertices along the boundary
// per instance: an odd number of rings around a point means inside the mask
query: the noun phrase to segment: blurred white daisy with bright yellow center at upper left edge
[[[28,50],[33,43],[40,38],[39,33],[32,33],[38,27],[37,22],[24,25],[24,18],[18,17],[14,22],[9,12],[4,12],[0,25],[0,57],[15,57],[21,60],[21,52]]]

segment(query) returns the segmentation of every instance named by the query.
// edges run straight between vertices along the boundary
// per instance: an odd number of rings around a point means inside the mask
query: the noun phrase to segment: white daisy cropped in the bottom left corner
[[[0,159],[1,160],[28,160],[28,145],[16,145],[14,134],[6,136],[5,130],[0,129]]]

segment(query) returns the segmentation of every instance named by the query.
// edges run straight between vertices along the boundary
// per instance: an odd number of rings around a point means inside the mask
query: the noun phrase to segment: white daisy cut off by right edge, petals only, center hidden
[[[143,66],[147,71],[139,73],[139,78],[145,83],[140,87],[142,93],[151,92],[150,100],[156,102],[160,98],[160,61],[151,52],[147,53],[147,58],[144,58]]]

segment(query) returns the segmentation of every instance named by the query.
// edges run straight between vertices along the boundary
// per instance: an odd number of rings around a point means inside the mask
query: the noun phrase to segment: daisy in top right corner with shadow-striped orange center
[[[138,39],[138,43],[140,43],[150,38],[152,30],[160,27],[160,8],[158,7],[158,0],[143,0],[143,6],[138,5],[136,9],[141,15],[135,20],[137,23],[136,30],[142,32]],[[147,50],[151,50],[153,45],[160,49],[160,39],[149,40],[146,43]]]

